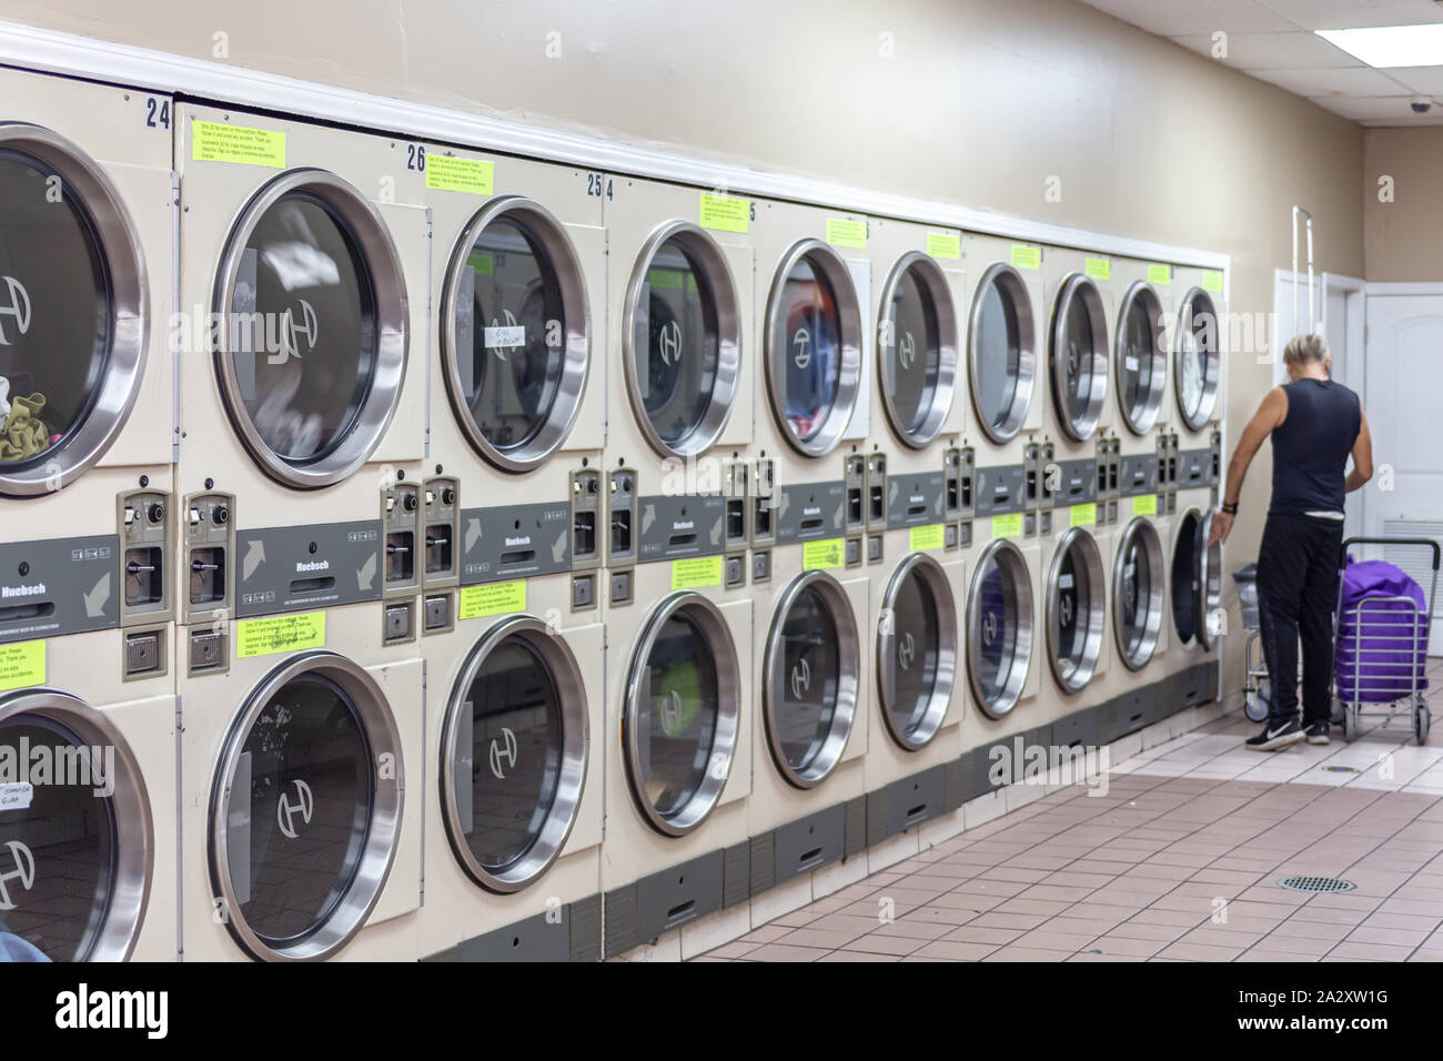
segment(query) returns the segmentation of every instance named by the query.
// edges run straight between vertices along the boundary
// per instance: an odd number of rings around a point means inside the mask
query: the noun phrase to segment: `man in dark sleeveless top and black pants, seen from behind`
[[[1242,478],[1263,440],[1273,439],[1273,501],[1258,549],[1258,615],[1273,703],[1247,746],[1273,752],[1307,739],[1328,743],[1332,716],[1333,608],[1343,543],[1343,495],[1372,478],[1372,437],[1358,396],[1329,378],[1320,335],[1283,351],[1289,383],[1274,387],[1242,429],[1228,462],[1228,492],[1212,521],[1225,541]],[[1348,472],[1348,458],[1354,466]],[[1303,639],[1303,720],[1297,719],[1297,641]]]

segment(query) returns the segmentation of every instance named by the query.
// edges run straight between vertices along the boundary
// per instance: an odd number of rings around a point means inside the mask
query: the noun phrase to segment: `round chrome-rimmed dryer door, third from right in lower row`
[[[1048,575],[1048,634],[1052,673],[1065,691],[1076,693],[1097,673],[1102,652],[1102,557],[1081,527],[1058,541]]]

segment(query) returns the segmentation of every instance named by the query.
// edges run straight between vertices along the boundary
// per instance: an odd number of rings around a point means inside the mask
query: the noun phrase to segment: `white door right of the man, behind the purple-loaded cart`
[[[1365,407],[1372,429],[1375,479],[1364,495],[1364,534],[1421,537],[1443,544],[1443,284],[1368,284]],[[1431,557],[1417,547],[1385,546],[1388,563],[1423,592]],[[1443,609],[1434,601],[1430,654],[1443,654]]]

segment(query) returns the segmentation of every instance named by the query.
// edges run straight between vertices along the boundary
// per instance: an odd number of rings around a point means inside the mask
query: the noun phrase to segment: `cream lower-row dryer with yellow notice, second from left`
[[[186,960],[421,957],[426,678],[384,608],[237,619],[180,676]]]

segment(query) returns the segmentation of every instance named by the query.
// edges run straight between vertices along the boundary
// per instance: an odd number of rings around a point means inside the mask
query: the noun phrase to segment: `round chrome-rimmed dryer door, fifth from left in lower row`
[[[772,756],[788,781],[810,788],[841,759],[857,707],[857,625],[835,579],[807,572],[786,588],[765,665]]]

